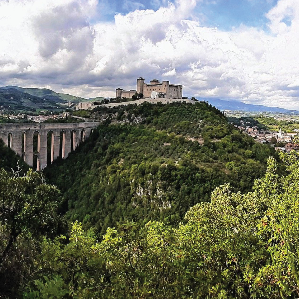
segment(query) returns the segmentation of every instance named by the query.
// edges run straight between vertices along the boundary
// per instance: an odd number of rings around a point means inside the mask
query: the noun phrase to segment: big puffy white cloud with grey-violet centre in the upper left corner
[[[10,61],[1,77],[33,77],[38,84],[80,68],[93,50],[88,16],[95,6],[92,0],[0,1],[0,64]]]

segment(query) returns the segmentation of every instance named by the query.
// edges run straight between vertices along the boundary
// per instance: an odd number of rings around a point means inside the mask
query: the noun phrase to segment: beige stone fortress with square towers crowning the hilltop
[[[139,77],[137,79],[136,90],[123,90],[121,88],[116,89],[116,97],[130,98],[135,93],[143,94],[143,97],[155,98],[167,98],[167,99],[181,99],[183,95],[183,86],[170,84],[169,81],[159,82],[157,79],[152,79],[150,83],[144,83],[144,79]]]

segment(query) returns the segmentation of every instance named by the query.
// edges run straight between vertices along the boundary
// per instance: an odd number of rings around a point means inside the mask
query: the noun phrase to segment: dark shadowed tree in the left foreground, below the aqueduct
[[[25,176],[19,170],[10,175],[0,169],[0,298],[17,297],[39,237],[55,235],[62,225],[57,188],[33,170]]]

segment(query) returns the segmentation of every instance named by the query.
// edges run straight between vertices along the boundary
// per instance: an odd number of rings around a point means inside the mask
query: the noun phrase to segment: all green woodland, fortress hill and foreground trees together
[[[0,140],[0,298],[298,297],[298,153],[204,102],[89,118],[45,173]]]

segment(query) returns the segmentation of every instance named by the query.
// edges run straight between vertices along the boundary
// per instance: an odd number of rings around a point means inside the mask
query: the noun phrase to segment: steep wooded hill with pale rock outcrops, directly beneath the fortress
[[[132,220],[177,225],[225,182],[250,190],[275,155],[203,102],[99,107],[90,118],[103,123],[46,175],[63,193],[67,219],[100,235]]]

